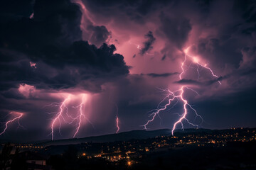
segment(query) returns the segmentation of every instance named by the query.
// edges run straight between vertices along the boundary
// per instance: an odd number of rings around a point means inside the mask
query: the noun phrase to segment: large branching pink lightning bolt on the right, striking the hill
[[[183,62],[181,63],[181,74],[179,74],[179,78],[182,79],[182,76],[183,74],[191,68],[191,64],[189,66],[186,66],[187,68],[185,69],[184,68],[184,65],[186,63],[186,60],[187,60],[187,57],[190,57],[191,60],[193,60],[193,62],[196,64],[196,71],[198,72],[198,79],[200,77],[200,72],[199,72],[199,67],[203,67],[205,69],[208,69],[208,71],[210,71],[211,75],[215,78],[218,79],[218,76],[216,74],[213,73],[213,70],[210,69],[210,67],[207,67],[206,64],[201,64],[198,60],[198,58],[196,57],[193,57],[191,55],[187,55],[188,53],[188,50],[189,50],[189,47],[184,50],[185,52],[185,56],[184,56],[184,60]],[[218,81],[219,84],[220,81]],[[171,130],[171,134],[174,135],[174,130],[176,130],[176,126],[178,124],[181,124],[181,129],[184,130],[184,127],[183,127],[183,121],[186,121],[189,125],[192,125],[192,126],[196,126],[198,127],[198,125],[196,124],[193,124],[191,123],[188,118],[186,118],[186,116],[188,115],[188,109],[190,109],[191,111],[193,111],[193,113],[195,113],[196,117],[195,117],[195,120],[196,118],[200,118],[201,119],[201,124],[203,123],[203,118],[201,117],[201,115],[199,115],[196,111],[196,109],[194,109],[189,103],[188,101],[184,98],[184,89],[187,89],[187,90],[190,90],[190,91],[193,91],[195,92],[197,95],[198,95],[198,92],[187,87],[187,86],[181,86],[180,89],[176,90],[176,91],[170,91],[169,89],[164,89],[162,90],[163,92],[166,92],[166,96],[163,98],[162,101],[160,101],[160,103],[158,104],[157,108],[150,111],[151,114],[149,115],[149,117],[151,117],[151,119],[147,120],[147,122],[143,125],[144,126],[144,129],[147,130],[147,125],[149,125],[149,123],[153,122],[154,119],[156,118],[156,115],[159,116],[159,113],[161,111],[166,111],[167,108],[169,108],[169,106],[171,106],[171,108],[174,108],[174,106],[176,106],[176,104],[178,103],[178,101],[182,101],[183,102],[183,113],[181,115],[179,115],[179,119],[174,123],[174,126]],[[162,106],[162,103],[166,102],[166,104],[164,106]],[[159,118],[161,119],[161,117],[159,116]]]

